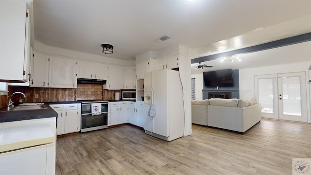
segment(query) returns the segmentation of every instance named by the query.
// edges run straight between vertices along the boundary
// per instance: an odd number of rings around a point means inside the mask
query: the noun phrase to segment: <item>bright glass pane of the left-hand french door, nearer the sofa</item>
[[[274,114],[274,84],[273,78],[258,79],[258,102],[261,104],[261,112]]]

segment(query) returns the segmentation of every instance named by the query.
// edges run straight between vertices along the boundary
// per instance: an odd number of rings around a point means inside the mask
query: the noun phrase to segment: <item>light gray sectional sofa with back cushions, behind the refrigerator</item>
[[[209,99],[191,102],[192,123],[244,133],[261,120],[256,99]]]

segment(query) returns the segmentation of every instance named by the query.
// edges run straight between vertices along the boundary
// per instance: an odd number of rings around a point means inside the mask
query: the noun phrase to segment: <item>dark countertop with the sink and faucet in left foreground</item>
[[[58,116],[57,112],[55,112],[48,104],[45,105],[48,107],[47,109],[0,112],[0,123]]]

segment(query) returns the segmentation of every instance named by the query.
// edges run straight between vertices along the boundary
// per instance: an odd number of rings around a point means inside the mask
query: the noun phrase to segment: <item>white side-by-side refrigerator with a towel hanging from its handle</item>
[[[157,70],[144,76],[144,130],[162,140],[175,140],[184,135],[183,89],[176,70]],[[148,115],[154,105],[155,115]]]

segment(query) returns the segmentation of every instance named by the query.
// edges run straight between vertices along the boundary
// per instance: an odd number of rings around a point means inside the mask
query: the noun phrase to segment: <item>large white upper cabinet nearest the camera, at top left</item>
[[[0,82],[27,82],[30,24],[26,12],[24,1],[0,0]]]

